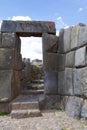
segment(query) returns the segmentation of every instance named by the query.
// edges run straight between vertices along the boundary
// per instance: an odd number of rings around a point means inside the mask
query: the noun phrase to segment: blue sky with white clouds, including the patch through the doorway
[[[0,0],[2,20],[54,21],[58,35],[61,28],[87,24],[87,0]],[[42,58],[41,38],[21,39],[23,57]]]

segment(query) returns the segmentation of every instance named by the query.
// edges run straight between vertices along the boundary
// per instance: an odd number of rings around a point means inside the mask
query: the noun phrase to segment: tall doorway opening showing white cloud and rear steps
[[[41,37],[20,37],[23,62],[23,90],[44,91]]]

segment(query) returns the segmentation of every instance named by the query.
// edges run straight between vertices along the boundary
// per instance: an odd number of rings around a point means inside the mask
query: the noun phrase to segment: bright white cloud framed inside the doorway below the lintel
[[[23,57],[33,59],[42,59],[42,38],[21,37],[21,53]]]

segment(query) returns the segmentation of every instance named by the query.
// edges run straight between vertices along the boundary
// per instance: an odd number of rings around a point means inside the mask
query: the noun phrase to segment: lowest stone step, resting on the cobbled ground
[[[12,110],[11,118],[28,118],[28,117],[38,117],[42,116],[39,109],[32,109],[32,110]]]

